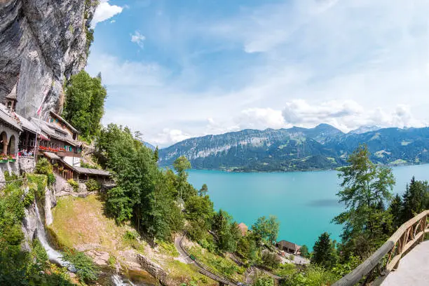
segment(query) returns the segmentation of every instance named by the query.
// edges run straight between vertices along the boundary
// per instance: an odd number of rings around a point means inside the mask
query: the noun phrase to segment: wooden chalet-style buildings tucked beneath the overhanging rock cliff
[[[109,172],[81,167],[83,143],[78,131],[60,115],[50,111],[46,120],[24,118],[15,112],[17,86],[0,104],[0,181],[4,172],[32,172],[38,158],[46,157],[56,175],[65,180],[105,182]]]

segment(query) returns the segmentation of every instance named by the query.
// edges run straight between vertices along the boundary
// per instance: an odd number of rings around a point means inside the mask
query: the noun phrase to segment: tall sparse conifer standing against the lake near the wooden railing
[[[391,217],[384,209],[384,201],[390,200],[395,179],[390,168],[374,165],[369,160],[365,145],[350,155],[348,163],[339,174],[343,189],[337,193],[346,211],[333,221],[343,224],[341,238],[346,255],[354,252],[364,257],[367,253],[362,252],[358,242],[366,241],[372,251],[372,247],[388,236]]]

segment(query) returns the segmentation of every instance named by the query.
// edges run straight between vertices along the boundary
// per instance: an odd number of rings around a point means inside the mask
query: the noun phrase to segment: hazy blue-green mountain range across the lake
[[[375,163],[429,163],[429,128],[369,126],[344,133],[328,124],[315,128],[247,129],[190,138],[161,149],[159,163],[169,166],[184,155],[195,169],[326,170],[346,165],[348,155],[363,143]]]

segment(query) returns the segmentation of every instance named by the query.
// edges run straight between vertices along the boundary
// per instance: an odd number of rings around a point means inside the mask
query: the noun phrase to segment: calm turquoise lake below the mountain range
[[[429,164],[393,168],[394,193],[404,193],[414,175],[429,181]],[[226,210],[234,219],[252,226],[258,217],[273,214],[280,221],[278,240],[312,248],[321,233],[339,240],[341,226],[331,220],[343,211],[335,194],[340,189],[336,171],[235,173],[189,170],[189,182],[208,186],[214,208]]]

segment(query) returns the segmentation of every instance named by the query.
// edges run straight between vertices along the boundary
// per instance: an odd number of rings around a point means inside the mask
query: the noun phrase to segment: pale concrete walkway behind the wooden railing
[[[417,245],[402,257],[399,267],[387,275],[382,286],[428,286],[429,240]]]

